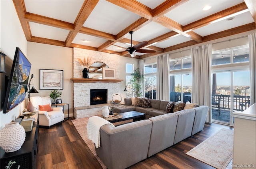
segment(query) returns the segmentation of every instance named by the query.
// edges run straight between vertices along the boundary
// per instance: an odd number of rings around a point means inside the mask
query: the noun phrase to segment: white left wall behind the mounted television
[[[20,48],[25,56],[27,56],[27,41],[24,36],[22,27],[20,25],[20,20],[18,19],[16,10],[12,0],[1,0],[0,1],[0,15],[1,15],[1,52],[7,55],[6,57],[6,74],[1,73],[1,85],[2,78],[4,76],[10,76],[10,71],[12,67],[12,62],[14,59],[14,54],[16,47]],[[3,92],[2,90],[0,92]],[[2,100],[1,100],[2,101]],[[15,120],[22,110],[24,109],[25,103],[22,102],[20,105],[4,114],[3,111],[0,111],[0,127],[4,127],[6,123],[10,123],[12,120]]]

